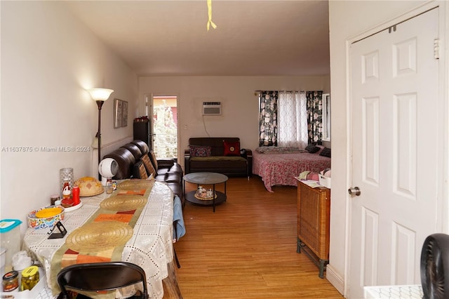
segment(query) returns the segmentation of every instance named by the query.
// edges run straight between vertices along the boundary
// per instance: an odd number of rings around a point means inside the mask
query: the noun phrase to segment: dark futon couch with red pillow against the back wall
[[[253,155],[240,147],[239,138],[189,138],[185,150],[185,173],[214,172],[227,176],[251,175]]]

